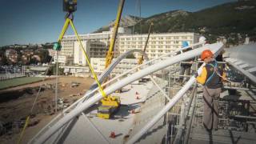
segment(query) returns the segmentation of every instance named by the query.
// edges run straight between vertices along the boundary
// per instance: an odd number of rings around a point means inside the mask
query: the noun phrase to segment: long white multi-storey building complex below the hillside
[[[105,69],[105,58],[110,46],[112,30],[96,34],[80,34],[82,45],[90,59],[91,65],[96,73],[102,73]],[[130,34],[130,30],[118,30],[118,37],[114,46],[114,56],[118,57],[129,50],[143,50],[146,44],[147,34]],[[148,58],[158,58],[162,54],[170,53],[182,47],[182,42],[187,41],[189,44],[198,42],[199,34],[196,33],[163,33],[150,34],[149,42],[146,46]],[[87,66],[85,54],[77,41],[75,35],[66,35],[62,39],[61,56],[73,58],[73,65]],[[126,59],[118,64],[114,73],[122,74],[124,70],[138,64],[140,54],[134,54],[136,59]]]

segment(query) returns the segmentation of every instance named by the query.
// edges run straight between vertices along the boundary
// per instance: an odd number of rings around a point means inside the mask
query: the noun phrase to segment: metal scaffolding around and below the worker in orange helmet
[[[194,61],[190,75],[180,75],[179,68],[181,63],[169,66],[168,70],[162,70],[162,79],[168,82],[167,94],[170,98],[173,98],[182,85],[179,82],[179,78],[183,77],[183,82],[187,81],[186,78],[190,78],[191,74],[194,74],[198,70],[198,66],[202,62]],[[218,62],[225,63],[225,62]],[[234,94],[234,90],[253,90],[250,85],[245,85],[244,78],[239,77],[239,74],[234,74],[234,70],[230,70],[229,66],[226,66],[226,71],[232,71],[229,75],[229,79],[234,80],[238,77],[238,81],[233,84],[225,84],[224,89],[226,94]],[[241,87],[243,86],[243,87]],[[234,96],[233,96],[234,97]],[[202,86],[194,85],[194,88],[188,90],[186,94],[166,113],[166,141],[165,143],[189,143],[191,129],[199,128],[203,129],[203,98],[202,98]],[[252,128],[255,126],[255,117],[252,114],[253,104],[255,100],[241,100],[232,98],[220,98],[219,100],[219,118],[218,129],[219,130],[236,130],[240,132],[252,132],[255,130]],[[254,110],[255,115],[255,110]],[[191,143],[191,142],[190,142]]]

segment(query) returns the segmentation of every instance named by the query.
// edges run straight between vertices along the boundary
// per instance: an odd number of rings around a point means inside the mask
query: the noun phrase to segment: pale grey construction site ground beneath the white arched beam
[[[159,85],[159,84],[158,84]],[[160,85],[166,86],[165,84]],[[152,82],[134,82],[122,88],[122,93],[114,93],[121,99],[121,107],[110,119],[97,117],[97,109],[84,112],[75,119],[73,126],[66,128],[58,143],[124,143],[137,134],[147,122],[158,114],[165,102],[164,96]],[[87,118],[85,117],[87,116]],[[70,124],[72,125],[72,124]],[[150,132],[140,139],[139,143],[160,143],[166,133],[162,129],[163,118],[154,125]],[[46,143],[53,142],[55,133]]]

